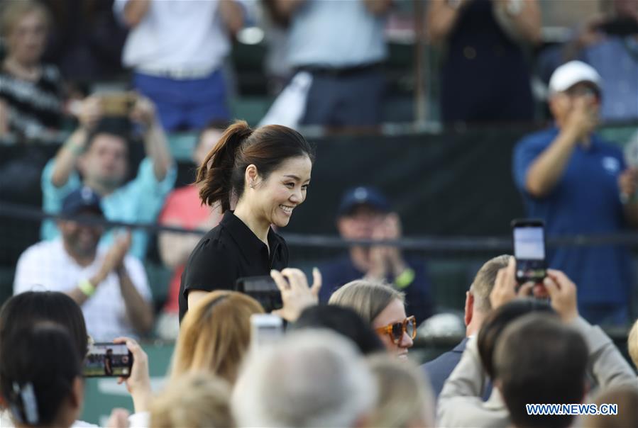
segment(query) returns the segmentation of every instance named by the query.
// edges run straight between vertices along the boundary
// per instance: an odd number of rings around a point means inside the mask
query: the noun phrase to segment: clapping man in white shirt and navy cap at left
[[[90,188],[72,192],[62,204],[68,216],[100,220],[100,200]],[[153,327],[150,289],[141,262],[127,256],[130,235],[98,247],[103,227],[60,220],[61,237],[35,244],[21,255],[13,293],[52,290],[70,295],[82,307],[94,339],[145,334]]]

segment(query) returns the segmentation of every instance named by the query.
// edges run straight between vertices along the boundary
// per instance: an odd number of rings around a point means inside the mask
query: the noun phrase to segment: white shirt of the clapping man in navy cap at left
[[[90,266],[82,267],[72,259],[60,238],[43,241],[25,250],[18,259],[13,294],[25,291],[71,291],[83,279],[89,279],[101,268],[108,248],[99,247]],[[126,256],[124,266],[144,300],[150,301],[148,279],[141,261]],[[119,336],[136,337],[121,295],[117,274],[111,272],[99,283],[95,293],[82,304],[87,330],[95,342],[111,342]]]

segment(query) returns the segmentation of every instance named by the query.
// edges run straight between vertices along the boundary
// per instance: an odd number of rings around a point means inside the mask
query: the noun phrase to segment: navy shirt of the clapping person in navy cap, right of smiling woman
[[[407,315],[414,315],[417,325],[426,320],[433,312],[433,304],[430,296],[430,285],[427,278],[427,269],[424,261],[406,258],[406,264],[414,271],[414,281],[400,291],[405,293],[405,311]],[[339,257],[329,264],[319,267],[323,285],[319,291],[319,301],[327,303],[332,293],[344,284],[360,279],[365,276],[354,266],[350,255]],[[388,283],[392,283],[394,278],[386,278]]]

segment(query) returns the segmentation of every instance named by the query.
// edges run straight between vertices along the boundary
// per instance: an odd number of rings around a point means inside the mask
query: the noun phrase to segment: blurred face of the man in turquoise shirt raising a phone
[[[118,135],[98,134],[82,155],[79,167],[87,181],[115,189],[126,178],[128,144]]]

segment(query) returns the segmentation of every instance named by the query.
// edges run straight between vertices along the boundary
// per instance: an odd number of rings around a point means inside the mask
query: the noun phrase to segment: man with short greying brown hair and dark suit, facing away
[[[499,269],[507,267],[507,261],[510,260],[510,257],[509,255],[494,257],[480,267],[469,291],[466,293],[466,337],[451,351],[421,366],[427,373],[436,397],[439,397],[439,393],[441,393],[441,389],[443,389],[443,384],[456,367],[456,364],[458,364],[458,361],[461,360],[461,355],[466,349],[468,337],[478,334],[478,330],[480,330],[480,326],[483,325],[485,316],[492,310],[492,305],[490,305],[490,293],[494,287],[496,275]]]

